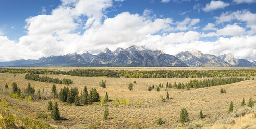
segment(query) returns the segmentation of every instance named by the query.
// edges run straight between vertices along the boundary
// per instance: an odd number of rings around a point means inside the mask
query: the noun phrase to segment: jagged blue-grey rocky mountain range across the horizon
[[[0,62],[0,66],[166,66],[166,67],[253,67],[256,61],[235,59],[233,54],[211,55],[201,51],[184,51],[176,55],[163,53],[161,50],[148,50],[144,47],[131,46],[127,49],[106,48],[97,55],[88,51],[83,54],[42,57],[38,60],[16,60]]]

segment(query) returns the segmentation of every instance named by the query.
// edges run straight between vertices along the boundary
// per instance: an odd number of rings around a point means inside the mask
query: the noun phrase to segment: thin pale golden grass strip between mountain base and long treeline
[[[3,67],[4,68],[4,67]],[[253,69],[256,67],[7,67],[19,69],[48,69],[48,70],[75,70],[75,69],[109,69],[109,70],[231,70]]]

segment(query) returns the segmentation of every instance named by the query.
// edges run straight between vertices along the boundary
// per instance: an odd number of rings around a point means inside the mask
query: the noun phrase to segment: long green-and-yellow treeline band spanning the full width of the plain
[[[155,70],[155,71],[128,71],[106,69],[77,69],[71,71],[46,69],[14,69],[1,68],[0,73],[30,73],[30,74],[63,74],[71,76],[107,76],[125,78],[200,78],[200,77],[230,77],[256,76],[256,70]]]

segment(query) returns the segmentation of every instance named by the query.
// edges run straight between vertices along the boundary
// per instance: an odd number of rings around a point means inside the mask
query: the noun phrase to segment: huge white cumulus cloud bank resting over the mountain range
[[[216,32],[211,35],[220,37],[214,42],[205,42],[200,38],[210,36],[210,33],[193,31],[198,28],[198,18],[187,17],[174,22],[172,18],[155,17],[150,9],[141,15],[122,12],[108,18],[106,9],[113,7],[113,1],[62,0],[62,4],[50,14],[27,18],[27,35],[18,42],[0,36],[0,61],[38,59],[75,52],[81,54],[85,51],[97,54],[106,47],[115,50],[131,45],[160,49],[167,54],[201,50],[209,54],[233,53],[237,58],[256,57],[256,36],[246,35],[251,30],[247,31],[239,24],[228,24],[217,29],[209,23],[204,30],[214,30]],[[238,19],[250,28],[255,25],[254,14],[248,11],[227,12],[215,19],[217,24]],[[234,37],[221,37],[227,35]]]

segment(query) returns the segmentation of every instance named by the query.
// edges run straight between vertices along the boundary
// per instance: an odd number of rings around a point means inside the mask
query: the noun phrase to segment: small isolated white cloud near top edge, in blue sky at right
[[[229,6],[229,3],[225,3],[223,1],[211,1],[210,3],[207,3],[205,8],[203,8],[203,11],[205,12],[209,12],[209,11],[213,11],[216,9],[221,9],[221,8],[225,8],[227,6]]]

